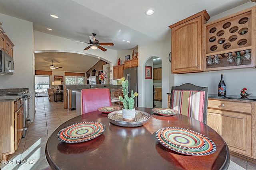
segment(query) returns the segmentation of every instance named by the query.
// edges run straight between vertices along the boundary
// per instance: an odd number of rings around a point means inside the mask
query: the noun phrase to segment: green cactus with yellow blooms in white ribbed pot
[[[135,108],[134,108],[134,98],[138,96],[138,93],[133,93],[133,90],[131,90],[131,96],[128,96],[128,86],[129,82],[128,80],[125,80],[124,77],[121,78],[121,84],[122,84],[122,92],[124,98],[122,96],[119,96],[119,100],[123,102],[123,120],[125,121],[132,121],[135,118]]]

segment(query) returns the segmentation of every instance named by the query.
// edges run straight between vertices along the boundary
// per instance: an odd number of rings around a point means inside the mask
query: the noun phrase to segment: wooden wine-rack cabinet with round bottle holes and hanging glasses
[[[234,68],[253,68],[256,56],[256,6],[236,12],[229,16],[206,23],[204,32],[206,34],[204,62],[208,58],[214,58],[217,55],[220,64],[207,65],[206,71],[227,70]],[[251,59],[243,60],[242,65],[228,63],[228,53],[236,58],[236,52],[241,53],[250,50]]]

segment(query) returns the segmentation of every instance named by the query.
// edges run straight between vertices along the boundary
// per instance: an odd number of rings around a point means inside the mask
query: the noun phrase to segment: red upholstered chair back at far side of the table
[[[111,106],[108,88],[82,89],[82,114],[96,111],[99,107]]]

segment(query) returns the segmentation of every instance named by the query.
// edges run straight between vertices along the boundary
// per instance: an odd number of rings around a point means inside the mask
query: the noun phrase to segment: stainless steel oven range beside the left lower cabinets
[[[29,100],[31,98],[30,92],[20,92],[18,93],[18,96],[23,96],[23,135],[22,137],[25,137],[28,127],[30,125],[30,119],[29,119]]]

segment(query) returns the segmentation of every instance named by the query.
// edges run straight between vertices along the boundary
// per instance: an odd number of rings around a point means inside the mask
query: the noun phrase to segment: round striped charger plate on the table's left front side
[[[105,125],[98,122],[81,122],[61,129],[57,138],[65,143],[80,143],[89,141],[101,135],[105,131]]]

